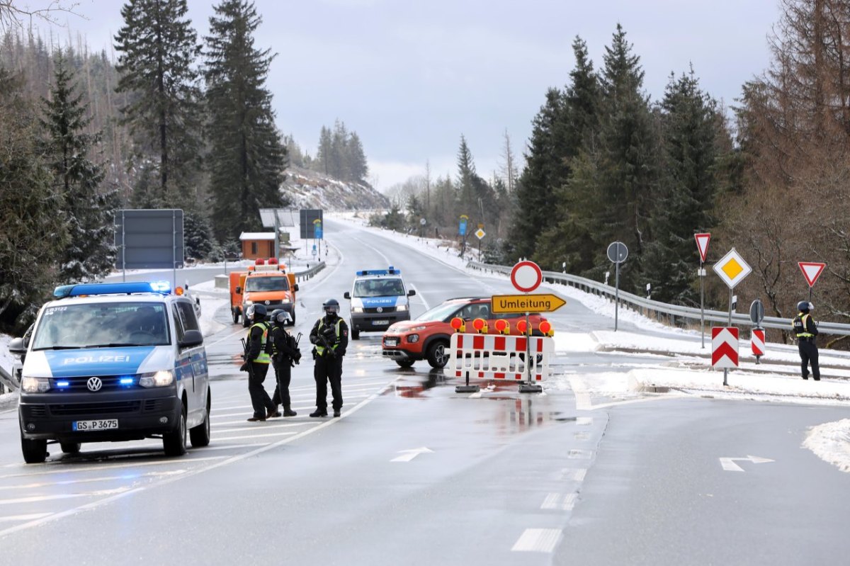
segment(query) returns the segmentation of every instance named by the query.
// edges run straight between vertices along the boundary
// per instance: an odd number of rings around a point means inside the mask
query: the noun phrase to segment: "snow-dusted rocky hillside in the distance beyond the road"
[[[293,208],[343,211],[389,207],[389,199],[370,184],[344,183],[301,167],[286,169],[282,190],[292,199]]]

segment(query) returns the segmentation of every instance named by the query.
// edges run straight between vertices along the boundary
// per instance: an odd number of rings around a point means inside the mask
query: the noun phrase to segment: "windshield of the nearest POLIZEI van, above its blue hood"
[[[33,350],[167,345],[166,305],[59,304],[44,310],[32,340]]]

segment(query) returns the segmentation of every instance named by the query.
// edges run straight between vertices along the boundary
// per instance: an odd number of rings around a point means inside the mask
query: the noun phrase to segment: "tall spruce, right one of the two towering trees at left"
[[[286,147],[265,86],[274,55],[254,46],[262,18],[245,0],[224,0],[215,13],[205,71],[212,220],[219,241],[228,241],[261,229],[260,208],[286,205]]]

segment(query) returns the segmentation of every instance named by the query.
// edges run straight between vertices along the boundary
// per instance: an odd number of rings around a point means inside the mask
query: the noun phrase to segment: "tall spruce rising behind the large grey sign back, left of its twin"
[[[128,0],[115,37],[121,73],[116,92],[127,93],[124,122],[140,163],[159,167],[158,207],[192,206],[201,167],[201,90],[195,59],[197,34],[186,0]]]

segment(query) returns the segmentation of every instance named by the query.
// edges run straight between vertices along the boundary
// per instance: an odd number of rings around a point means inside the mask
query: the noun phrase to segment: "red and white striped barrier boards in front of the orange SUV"
[[[525,365],[526,341],[529,341],[529,364]],[[486,334],[451,335],[446,375],[477,377],[479,379],[509,379],[523,381],[531,378],[542,381],[549,376],[549,359],[554,352],[551,337],[497,336]]]

